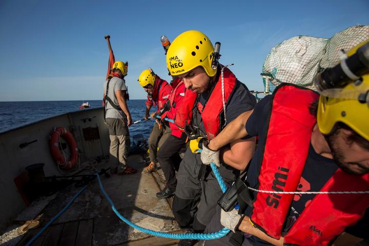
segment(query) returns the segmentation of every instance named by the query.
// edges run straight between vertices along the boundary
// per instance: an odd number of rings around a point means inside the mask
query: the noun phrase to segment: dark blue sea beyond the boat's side
[[[145,101],[128,101],[128,108],[131,111],[133,121],[142,119],[145,116]],[[102,107],[101,100],[90,100],[88,102],[91,108]],[[0,101],[0,132],[40,119],[77,111],[81,104],[82,101]],[[149,137],[153,124],[153,120],[141,121],[134,124],[129,128],[130,135],[141,133],[145,137]]]

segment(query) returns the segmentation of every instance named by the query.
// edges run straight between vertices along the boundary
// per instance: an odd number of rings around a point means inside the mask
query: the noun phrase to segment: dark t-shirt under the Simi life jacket
[[[259,146],[255,151],[253,159],[251,160],[248,173],[247,182],[250,187],[256,188],[258,186],[257,173],[260,170],[261,161],[261,144],[264,142],[267,135],[267,127],[269,124],[269,116],[272,108],[273,96],[265,96],[255,106],[254,112],[246,124],[246,130],[251,136],[259,136]],[[333,159],[329,159],[317,154],[310,144],[309,154],[306,158],[305,167],[302,172],[302,176],[297,188],[297,191],[319,191],[325,185],[325,183],[332,177],[332,175],[338,170],[338,166]],[[252,193],[252,196],[256,196],[256,192]],[[291,209],[284,225],[284,232],[287,232],[293,223],[297,220],[304,208],[308,206],[309,202],[314,198],[314,194],[296,194],[291,204]],[[323,209],[323,208],[322,208]],[[248,208],[245,212],[247,215],[251,214],[251,208]],[[364,223],[365,224],[365,223]],[[364,227],[358,224],[358,227],[354,230],[350,230],[350,234],[361,235],[363,230],[367,231]],[[254,241],[256,245],[270,245],[269,243],[260,240],[256,237],[251,237],[250,240]]]

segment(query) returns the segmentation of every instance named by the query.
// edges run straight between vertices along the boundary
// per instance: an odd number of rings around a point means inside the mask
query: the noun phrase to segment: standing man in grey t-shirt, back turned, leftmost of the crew
[[[128,91],[124,77],[127,64],[116,61],[112,67],[113,76],[104,83],[104,118],[109,127],[111,173],[134,174],[137,171],[127,165],[131,145],[128,126],[132,124],[127,107]]]

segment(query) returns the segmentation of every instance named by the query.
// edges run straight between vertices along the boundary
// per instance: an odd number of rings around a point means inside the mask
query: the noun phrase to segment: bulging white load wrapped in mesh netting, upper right
[[[314,76],[339,62],[340,50],[350,50],[369,39],[369,26],[354,26],[332,38],[296,36],[272,48],[264,60],[261,76],[264,92],[270,94],[281,83],[315,90]]]

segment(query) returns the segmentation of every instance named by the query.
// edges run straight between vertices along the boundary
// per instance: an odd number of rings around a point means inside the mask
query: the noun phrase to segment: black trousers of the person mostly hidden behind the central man
[[[161,170],[167,181],[166,186],[172,191],[174,191],[177,186],[174,167],[178,166],[181,161],[178,152],[185,147],[186,137],[186,134],[182,134],[180,138],[170,135],[157,153]]]

